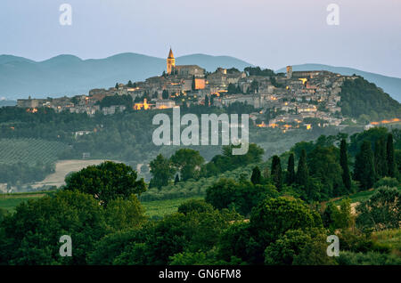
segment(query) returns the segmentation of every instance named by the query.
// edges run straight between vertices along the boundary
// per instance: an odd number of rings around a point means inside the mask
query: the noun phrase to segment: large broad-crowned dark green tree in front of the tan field
[[[98,166],[87,166],[70,174],[64,190],[78,190],[94,196],[104,206],[112,199],[127,199],[146,190],[143,178],[136,180],[137,173],[131,166],[111,161]]]

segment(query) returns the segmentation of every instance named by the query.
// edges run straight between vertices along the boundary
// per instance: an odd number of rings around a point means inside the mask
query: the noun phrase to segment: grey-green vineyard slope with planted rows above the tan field
[[[52,164],[66,149],[62,142],[36,139],[0,139],[0,165],[23,163],[28,166]]]

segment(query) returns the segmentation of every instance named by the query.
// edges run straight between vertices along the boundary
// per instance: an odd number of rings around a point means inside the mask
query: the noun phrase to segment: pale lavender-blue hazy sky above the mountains
[[[61,26],[61,4],[72,25]],[[329,26],[328,4],[340,25]],[[0,54],[231,55],[265,68],[322,63],[401,77],[400,0],[1,0]]]

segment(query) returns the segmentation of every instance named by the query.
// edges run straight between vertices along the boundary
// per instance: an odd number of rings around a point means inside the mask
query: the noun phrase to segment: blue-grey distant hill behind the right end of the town
[[[328,70],[333,73],[338,73],[344,76],[358,75],[364,77],[371,83],[381,87],[385,93],[389,93],[392,98],[401,102],[401,78],[386,77],[379,74],[364,72],[360,69],[352,69],[345,67],[334,67],[322,64],[302,64],[292,66],[293,71],[300,70]],[[285,68],[278,69],[277,72],[285,72]]]

